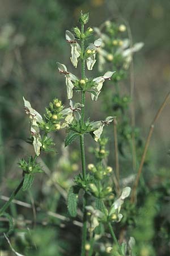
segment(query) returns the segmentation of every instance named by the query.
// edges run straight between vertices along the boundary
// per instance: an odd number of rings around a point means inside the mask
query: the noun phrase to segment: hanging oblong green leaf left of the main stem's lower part
[[[78,193],[79,187],[73,186],[70,188],[68,196],[67,196],[67,203],[68,203],[68,210],[72,217],[75,217],[77,214],[77,202],[78,202]]]

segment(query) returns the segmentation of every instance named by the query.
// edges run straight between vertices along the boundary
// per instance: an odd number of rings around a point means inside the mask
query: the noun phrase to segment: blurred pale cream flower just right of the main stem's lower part
[[[100,210],[94,209],[91,205],[88,205],[86,210],[91,213],[91,225],[89,231],[92,232],[96,226],[99,226],[99,221],[104,218],[104,213]]]

